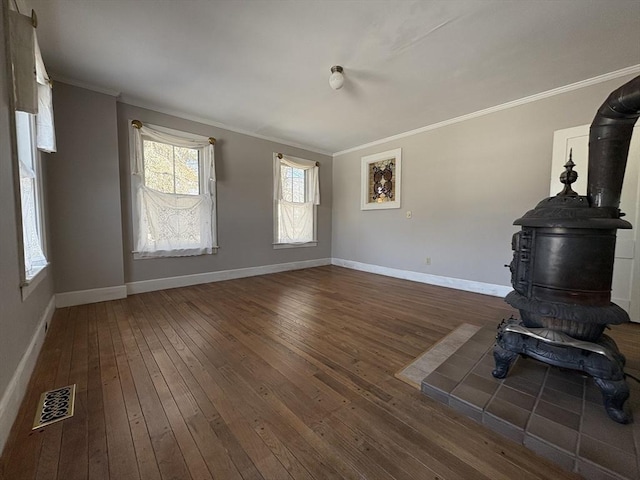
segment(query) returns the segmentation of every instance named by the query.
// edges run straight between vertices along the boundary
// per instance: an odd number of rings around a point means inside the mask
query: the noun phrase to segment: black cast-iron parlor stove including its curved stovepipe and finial
[[[640,116],[640,77],[612,92],[591,124],[586,196],[571,189],[577,179],[571,158],[560,176],[564,189],[542,200],[514,222],[509,265],[513,291],[507,303],[520,311],[498,327],[493,375],[504,378],[521,354],[591,375],[605,409],[619,423],[629,387],[624,356],[603,334],[607,325],[629,321],[611,303],[618,229],[632,228],[621,217],[620,195],[629,143]]]

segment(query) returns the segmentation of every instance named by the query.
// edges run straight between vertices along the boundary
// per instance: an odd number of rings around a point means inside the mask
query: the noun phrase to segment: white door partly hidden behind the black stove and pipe
[[[640,322],[640,126],[633,132],[620,199],[620,210],[627,214],[624,219],[633,229],[618,230],[611,300],[629,313],[631,321]],[[579,195],[587,194],[589,125],[582,125],[554,132],[551,195],[562,190],[559,178],[571,149],[578,172],[578,180],[571,187]]]

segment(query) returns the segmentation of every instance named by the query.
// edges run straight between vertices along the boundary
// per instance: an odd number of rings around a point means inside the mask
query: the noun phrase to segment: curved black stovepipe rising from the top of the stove
[[[638,117],[640,76],[611,92],[591,123],[587,198],[592,207],[611,209],[613,218],[620,216],[622,181]]]

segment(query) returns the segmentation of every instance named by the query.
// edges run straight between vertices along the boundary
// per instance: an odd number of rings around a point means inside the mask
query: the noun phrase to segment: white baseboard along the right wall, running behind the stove
[[[429,285],[438,285],[440,287],[455,288],[456,290],[465,290],[467,292],[493,295],[494,297],[504,297],[507,293],[513,290],[512,287],[505,285],[476,282],[473,280],[464,280],[462,278],[441,277],[439,275],[430,275],[428,273],[412,272],[410,270],[381,267],[379,265],[354,262],[352,260],[343,260],[341,258],[333,258],[331,260],[331,263],[333,265],[350,268],[352,270],[377,273],[379,275],[386,275],[387,277],[401,278],[403,280],[411,280],[413,282],[428,283]]]

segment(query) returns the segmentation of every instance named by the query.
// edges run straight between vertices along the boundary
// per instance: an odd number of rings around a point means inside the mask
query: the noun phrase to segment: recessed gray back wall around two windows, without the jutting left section
[[[220,249],[216,255],[133,259],[129,182],[132,119],[217,139]],[[331,257],[331,157],[122,103],[118,103],[118,136],[127,282]],[[273,152],[320,164],[317,247],[273,249]]]

